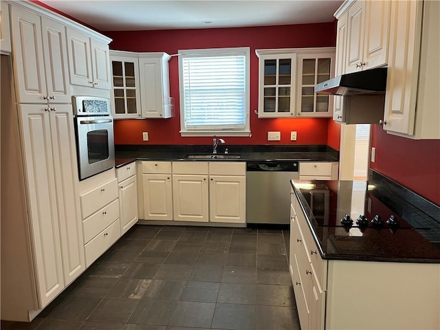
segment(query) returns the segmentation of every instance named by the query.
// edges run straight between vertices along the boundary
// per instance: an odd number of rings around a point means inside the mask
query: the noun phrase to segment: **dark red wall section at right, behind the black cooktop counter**
[[[411,140],[371,126],[376,156],[370,167],[440,206],[440,140]]]

